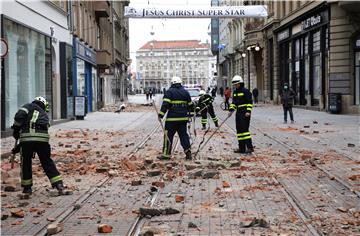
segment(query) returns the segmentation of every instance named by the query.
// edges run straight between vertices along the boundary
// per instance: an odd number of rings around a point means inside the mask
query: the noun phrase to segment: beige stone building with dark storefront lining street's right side
[[[279,103],[279,91],[287,82],[296,92],[298,106],[328,111],[336,93],[342,113],[360,112],[359,2],[243,4],[266,4],[269,16],[228,24],[230,32],[236,32],[230,36],[234,50],[227,56],[229,78],[243,75],[250,90],[259,89],[262,101]]]

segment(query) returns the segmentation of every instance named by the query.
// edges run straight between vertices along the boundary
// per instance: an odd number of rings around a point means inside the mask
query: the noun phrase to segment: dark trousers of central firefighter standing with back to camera
[[[174,135],[177,132],[180,138],[181,146],[184,148],[184,151],[190,150],[190,138],[187,133],[186,128],[187,122],[178,122],[178,121],[166,121],[165,122],[165,134],[164,134],[164,145],[163,145],[163,156],[169,157],[171,154],[172,143]],[[166,138],[169,138],[169,140]]]

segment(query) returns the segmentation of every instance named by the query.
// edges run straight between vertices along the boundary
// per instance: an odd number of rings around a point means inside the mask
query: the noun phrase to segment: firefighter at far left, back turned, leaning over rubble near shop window
[[[14,117],[13,137],[19,139],[19,148],[13,153],[21,154],[21,186],[23,193],[32,193],[32,158],[35,153],[39,156],[41,166],[53,188],[63,193],[64,186],[59,171],[51,159],[48,128],[50,126],[49,104],[43,97],[36,97],[32,103],[22,106]]]

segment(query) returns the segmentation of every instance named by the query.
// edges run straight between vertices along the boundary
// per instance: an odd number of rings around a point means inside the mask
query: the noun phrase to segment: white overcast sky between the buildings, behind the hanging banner
[[[131,0],[129,6],[210,6],[210,0]],[[136,70],[135,52],[151,40],[201,40],[210,42],[210,19],[141,19],[130,18],[130,57]],[[153,31],[152,36],[150,32]]]

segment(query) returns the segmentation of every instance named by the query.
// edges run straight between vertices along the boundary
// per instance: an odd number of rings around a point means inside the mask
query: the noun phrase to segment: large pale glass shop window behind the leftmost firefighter
[[[35,97],[45,97],[53,107],[52,55],[49,35],[4,15],[1,19],[1,38],[9,47],[8,55],[1,60],[1,130],[5,131],[19,107]],[[52,118],[52,110],[49,117]]]

